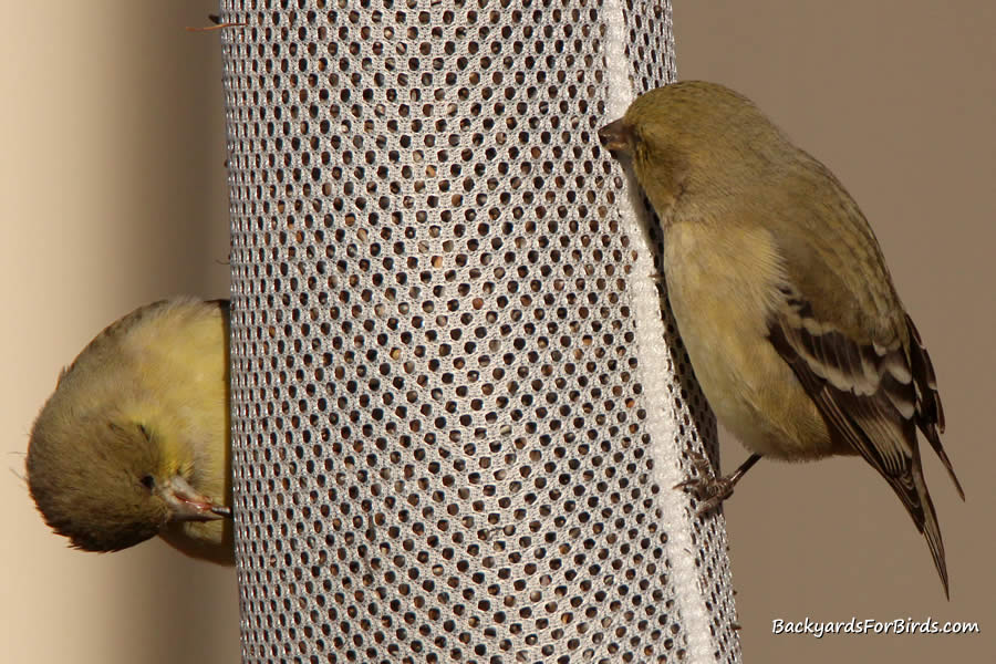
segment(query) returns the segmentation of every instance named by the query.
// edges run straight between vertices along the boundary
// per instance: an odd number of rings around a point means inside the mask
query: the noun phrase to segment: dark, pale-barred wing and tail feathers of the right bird
[[[917,426],[937,450],[958,494],[961,484],[941,447],[943,411],[930,357],[909,315],[903,330],[879,325],[878,339],[857,340],[818,320],[809,300],[780,288],[768,321],[769,340],[816,403],[832,434],[885,478],[924,533],[947,592],[944,544],[926,489]],[[900,309],[901,310],[901,309]]]

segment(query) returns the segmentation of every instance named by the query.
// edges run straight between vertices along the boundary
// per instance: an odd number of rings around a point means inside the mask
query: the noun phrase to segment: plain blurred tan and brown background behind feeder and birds
[[[753,97],[841,178],[923,333],[962,504],[927,448],[952,579],[857,459],[759,464],[727,504],[746,662],[996,654],[996,6],[674,0],[678,73]],[[235,663],[235,572],[153,541],[65,548],[20,479],[60,369],[105,324],[228,291],[224,96],[208,2],[4,1],[0,40],[0,639],[6,662]],[[746,457],[724,442],[729,470]],[[976,621],[977,635],[776,636],[771,621]]]

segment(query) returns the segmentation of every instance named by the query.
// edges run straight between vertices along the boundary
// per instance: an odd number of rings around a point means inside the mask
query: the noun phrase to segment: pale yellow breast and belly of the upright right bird
[[[732,262],[746,264],[730,269]],[[840,454],[816,405],[768,341],[767,318],[784,279],[768,231],[671,224],[664,271],[692,369],[719,422],[764,456]],[[738,278],[745,272],[762,278]]]

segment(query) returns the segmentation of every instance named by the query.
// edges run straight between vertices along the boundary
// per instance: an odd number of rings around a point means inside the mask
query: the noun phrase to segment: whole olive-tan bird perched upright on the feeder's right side
[[[926,537],[948,594],[917,428],[965,494],[941,446],[930,356],[851,196],[749,100],[714,83],[647,92],[599,136],[632,157],[661,220],[695,376],[754,453],[729,477],[683,485],[710,509],[761,456],[860,454]]]

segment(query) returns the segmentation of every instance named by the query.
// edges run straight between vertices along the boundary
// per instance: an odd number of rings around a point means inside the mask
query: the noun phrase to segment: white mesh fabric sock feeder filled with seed
[[[666,2],[226,1],[243,662],[738,662],[715,428],[596,131]]]

